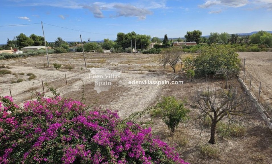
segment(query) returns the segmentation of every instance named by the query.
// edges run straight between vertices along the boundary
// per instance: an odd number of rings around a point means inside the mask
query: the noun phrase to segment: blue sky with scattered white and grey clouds
[[[271,18],[272,0],[2,0],[0,44],[20,33],[42,36],[41,21],[50,42],[79,41],[80,34],[83,41],[115,40],[118,32],[131,31],[159,38],[193,30],[203,35],[272,31]],[[38,24],[5,26],[32,23]]]

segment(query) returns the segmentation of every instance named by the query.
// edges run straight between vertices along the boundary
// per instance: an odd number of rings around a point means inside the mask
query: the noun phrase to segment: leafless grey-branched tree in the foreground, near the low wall
[[[238,92],[238,87],[229,89],[210,89],[196,91],[193,96],[192,106],[200,113],[197,120],[211,119],[210,140],[215,143],[216,124],[223,119],[229,122],[240,121],[246,114],[250,114],[253,104],[245,93]]]

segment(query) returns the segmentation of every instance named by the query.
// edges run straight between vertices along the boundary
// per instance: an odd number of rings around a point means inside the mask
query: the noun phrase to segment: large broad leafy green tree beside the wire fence
[[[214,75],[219,68],[233,69],[238,72],[240,59],[229,45],[203,46],[195,58],[195,72],[199,76]]]

